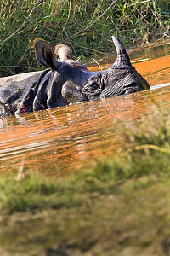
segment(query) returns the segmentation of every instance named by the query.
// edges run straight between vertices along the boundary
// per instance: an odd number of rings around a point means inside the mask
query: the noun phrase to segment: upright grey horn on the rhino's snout
[[[122,42],[115,36],[112,36],[112,40],[116,47],[117,58],[115,63],[111,66],[111,68],[124,69],[133,67],[130,62],[129,56],[127,55],[127,51],[122,45]]]

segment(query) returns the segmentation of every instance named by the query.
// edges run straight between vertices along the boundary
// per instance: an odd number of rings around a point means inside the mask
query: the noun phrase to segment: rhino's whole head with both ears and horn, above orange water
[[[66,53],[65,58],[59,57],[61,62],[57,61],[50,44],[43,40],[37,41],[37,60],[42,65],[54,70],[58,81],[59,74],[65,78],[62,79],[61,89],[61,96],[65,99],[65,104],[120,96],[150,88],[147,81],[131,64],[121,41],[115,36],[112,36],[112,39],[116,46],[116,61],[107,70],[99,72],[91,72],[82,64],[73,61],[65,47],[62,48]],[[62,53],[62,55],[64,54]]]

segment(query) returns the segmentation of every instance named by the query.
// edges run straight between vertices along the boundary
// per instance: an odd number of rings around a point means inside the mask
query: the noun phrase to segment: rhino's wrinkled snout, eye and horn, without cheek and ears
[[[115,63],[104,72],[94,74],[84,85],[82,93],[89,100],[125,95],[150,88],[148,82],[136,71],[130,62],[121,41],[112,36],[116,46]]]

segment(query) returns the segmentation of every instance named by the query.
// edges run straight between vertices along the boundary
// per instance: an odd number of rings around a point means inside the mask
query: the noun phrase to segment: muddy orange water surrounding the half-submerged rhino
[[[133,51],[130,58],[150,90],[0,119],[0,172],[59,176],[80,170],[121,143],[116,118],[133,124],[155,108],[151,99],[170,107],[170,44]],[[113,61],[98,60],[103,69]]]

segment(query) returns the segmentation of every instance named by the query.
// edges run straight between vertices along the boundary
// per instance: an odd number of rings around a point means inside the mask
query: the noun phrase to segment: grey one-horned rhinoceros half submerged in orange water
[[[37,39],[34,45],[37,61],[48,68],[1,78],[0,115],[27,113],[149,89],[150,85],[132,66],[121,41],[115,36],[112,39],[116,46],[116,61],[99,72],[89,71],[74,61],[68,46],[60,44],[54,51],[48,41]]]

